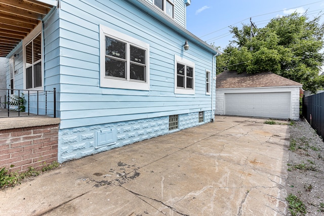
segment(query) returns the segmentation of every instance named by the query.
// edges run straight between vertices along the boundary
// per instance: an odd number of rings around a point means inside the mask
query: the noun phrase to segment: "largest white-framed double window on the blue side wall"
[[[149,45],[100,25],[100,86],[149,90]]]

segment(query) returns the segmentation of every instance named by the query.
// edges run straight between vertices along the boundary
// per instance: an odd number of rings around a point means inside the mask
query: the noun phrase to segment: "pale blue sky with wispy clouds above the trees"
[[[250,24],[251,17],[256,26],[262,28],[272,18],[295,11],[301,14],[307,11],[312,19],[324,14],[324,0],[191,0],[187,7],[187,29],[208,44],[214,42],[222,50],[232,40],[229,26]]]

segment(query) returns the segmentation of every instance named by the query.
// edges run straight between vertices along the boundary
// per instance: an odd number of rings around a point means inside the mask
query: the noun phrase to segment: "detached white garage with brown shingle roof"
[[[216,78],[215,114],[298,120],[301,87],[271,72],[225,71]]]

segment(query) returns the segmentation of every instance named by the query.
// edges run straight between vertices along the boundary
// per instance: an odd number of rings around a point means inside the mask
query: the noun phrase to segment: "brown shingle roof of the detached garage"
[[[287,79],[271,72],[248,74],[246,72],[237,74],[236,71],[224,71],[218,74],[216,89],[231,88],[260,88],[260,87],[282,87],[301,86],[299,82]]]

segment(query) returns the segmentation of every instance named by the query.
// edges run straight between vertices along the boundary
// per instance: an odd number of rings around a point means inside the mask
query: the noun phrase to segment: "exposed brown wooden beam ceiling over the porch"
[[[0,0],[0,57],[6,57],[52,8],[36,0]]]

